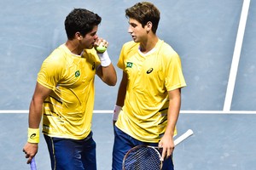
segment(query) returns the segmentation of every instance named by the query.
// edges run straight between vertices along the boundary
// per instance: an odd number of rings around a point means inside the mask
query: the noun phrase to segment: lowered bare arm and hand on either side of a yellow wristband
[[[44,99],[47,98],[50,92],[50,89],[44,88],[44,86],[37,82],[29,108],[28,125],[30,128],[39,128],[42,118]],[[26,158],[28,158],[27,163],[30,163],[32,161],[32,157],[38,152],[38,144],[27,142],[23,148],[23,151],[26,154]]]

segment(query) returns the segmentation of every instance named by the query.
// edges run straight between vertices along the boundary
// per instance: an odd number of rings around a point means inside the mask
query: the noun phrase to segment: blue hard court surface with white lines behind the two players
[[[125,8],[136,0],[0,1],[0,170],[29,169],[22,152],[28,107],[37,73],[49,53],[66,42],[64,20],[73,8],[102,16],[98,35],[108,40],[116,65],[127,33]],[[256,167],[256,1],[152,0],[161,12],[158,36],[180,55],[187,87],[182,89],[178,135],[194,135],[174,150],[176,170],[253,170]],[[120,81],[122,71],[115,67]],[[92,122],[97,167],[111,169],[110,114],[119,82],[108,87],[96,77]],[[42,137],[42,135],[41,135]],[[44,138],[38,170],[50,169]]]

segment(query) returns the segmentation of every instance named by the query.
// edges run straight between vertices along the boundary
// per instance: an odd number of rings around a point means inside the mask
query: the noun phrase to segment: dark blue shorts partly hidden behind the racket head
[[[158,143],[145,143],[137,139],[134,139],[130,135],[121,131],[118,127],[114,126],[112,169],[121,170],[122,162],[126,152],[139,144],[158,146]],[[162,170],[173,170],[173,169],[174,167],[172,163],[172,156],[170,156],[163,162]]]

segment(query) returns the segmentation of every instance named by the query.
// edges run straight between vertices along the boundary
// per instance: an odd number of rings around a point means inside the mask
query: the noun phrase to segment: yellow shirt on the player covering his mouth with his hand
[[[52,90],[44,101],[43,133],[84,139],[90,133],[94,80],[100,60],[94,49],[72,54],[65,44],[44,60],[38,83]]]

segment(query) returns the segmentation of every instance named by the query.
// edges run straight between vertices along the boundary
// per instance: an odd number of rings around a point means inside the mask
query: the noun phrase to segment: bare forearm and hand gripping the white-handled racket
[[[175,126],[177,123],[180,105],[181,105],[181,89],[177,88],[175,90],[169,91],[169,109],[167,115],[167,127],[166,132],[162,139],[160,139],[159,146],[163,147],[162,158],[172,155],[174,150],[173,135]]]

